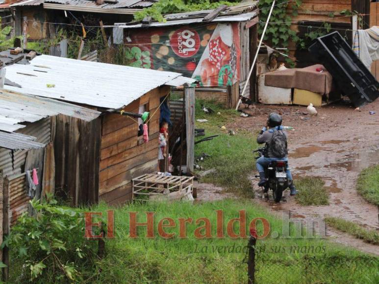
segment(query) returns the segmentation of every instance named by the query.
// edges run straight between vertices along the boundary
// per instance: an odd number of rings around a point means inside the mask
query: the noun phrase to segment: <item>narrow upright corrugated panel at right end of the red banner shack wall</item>
[[[246,87],[245,94],[242,94],[242,90],[245,86],[246,79],[250,71],[250,47],[249,47],[249,29],[245,28],[246,22],[240,23],[240,42],[241,42],[241,76],[240,76],[240,95],[250,97],[250,82]]]

